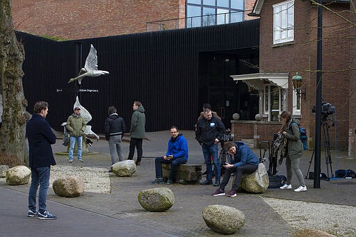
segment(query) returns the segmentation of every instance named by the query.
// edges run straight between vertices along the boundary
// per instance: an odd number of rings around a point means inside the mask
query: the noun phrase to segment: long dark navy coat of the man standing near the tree
[[[56,143],[56,134],[47,120],[35,113],[26,124],[29,139],[29,166],[33,168],[56,165],[51,144]]]

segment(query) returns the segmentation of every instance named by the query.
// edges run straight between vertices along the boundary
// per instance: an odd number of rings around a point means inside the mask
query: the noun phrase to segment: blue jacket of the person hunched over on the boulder
[[[259,158],[251,149],[245,145],[245,142],[235,142],[236,154],[234,155],[234,167],[249,165],[259,165]]]

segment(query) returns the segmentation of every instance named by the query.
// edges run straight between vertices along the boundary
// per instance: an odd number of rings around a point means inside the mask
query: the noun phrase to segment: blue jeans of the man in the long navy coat
[[[29,209],[36,211],[36,194],[38,185],[40,191],[38,192],[38,211],[43,213],[46,211],[47,190],[49,187],[49,174],[51,172],[50,166],[31,168],[31,186],[29,190]]]

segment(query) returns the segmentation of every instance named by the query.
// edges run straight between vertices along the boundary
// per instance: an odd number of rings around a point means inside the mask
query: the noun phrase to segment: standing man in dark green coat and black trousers
[[[137,149],[137,161],[136,165],[141,164],[141,158],[143,155],[142,141],[145,138],[145,108],[143,108],[140,101],[133,102],[133,113],[131,117],[130,126],[130,152],[128,160],[133,159],[133,154],[135,154],[135,147]]]

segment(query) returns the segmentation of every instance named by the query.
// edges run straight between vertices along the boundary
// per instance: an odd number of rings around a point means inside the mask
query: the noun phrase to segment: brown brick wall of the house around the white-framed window
[[[264,1],[260,22],[260,72],[290,72],[288,110],[292,108],[291,77],[296,72],[304,78],[303,90],[306,99],[302,99],[300,122],[307,129],[309,142],[314,142],[315,114],[312,107],[316,101],[316,37],[317,9],[309,1],[295,1],[295,32],[291,44],[273,45],[273,7],[281,1]],[[333,10],[341,13],[348,10],[348,4],[332,5]],[[298,10],[302,9],[302,10]],[[341,13],[347,16],[348,13]],[[350,17],[350,16],[347,16]],[[355,28],[355,27],[354,27]],[[323,12],[323,101],[337,108],[337,147],[348,149],[350,137],[355,136],[350,128],[355,126],[355,113],[349,117],[349,110],[356,108],[355,99],[349,100],[350,90],[350,30],[345,20],[327,10]],[[355,64],[354,64],[355,65]],[[354,83],[355,84],[355,83]],[[352,124],[352,126],[350,126]],[[330,122],[330,145],[334,147],[335,126]],[[322,138],[323,139],[323,138]],[[323,142],[323,140],[322,140]]]

